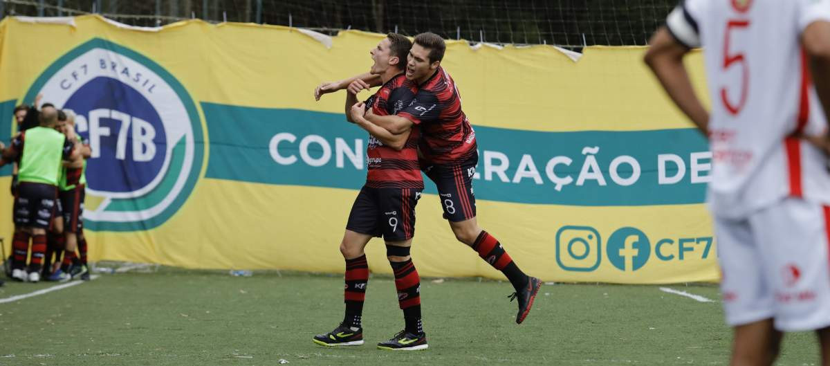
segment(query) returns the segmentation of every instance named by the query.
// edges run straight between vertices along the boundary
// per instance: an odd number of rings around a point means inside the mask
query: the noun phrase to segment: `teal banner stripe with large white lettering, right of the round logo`
[[[360,188],[369,136],[340,114],[202,103],[207,178]],[[702,203],[711,154],[696,129],[540,132],[475,127],[476,198],[641,206]],[[426,178],[425,178],[426,179]],[[436,193],[428,182],[427,193]]]

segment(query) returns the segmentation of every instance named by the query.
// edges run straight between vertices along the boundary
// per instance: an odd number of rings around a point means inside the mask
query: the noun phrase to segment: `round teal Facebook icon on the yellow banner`
[[[652,245],[646,234],[634,227],[623,227],[608,237],[608,261],[620,271],[637,271],[646,265]]]

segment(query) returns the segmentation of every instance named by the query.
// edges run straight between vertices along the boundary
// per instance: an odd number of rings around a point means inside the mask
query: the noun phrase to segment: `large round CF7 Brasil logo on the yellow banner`
[[[71,110],[90,141],[86,226],[157,227],[193,191],[203,164],[202,121],[183,86],[148,57],[95,38],[49,66],[24,100],[38,93]]]

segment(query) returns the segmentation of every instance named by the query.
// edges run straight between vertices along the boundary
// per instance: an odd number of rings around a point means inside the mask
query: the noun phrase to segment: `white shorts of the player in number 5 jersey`
[[[830,207],[785,198],[744,220],[715,218],[726,323],[830,325]]]

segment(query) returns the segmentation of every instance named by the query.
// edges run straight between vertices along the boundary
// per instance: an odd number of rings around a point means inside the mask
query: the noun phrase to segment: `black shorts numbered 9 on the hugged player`
[[[415,205],[421,189],[360,188],[354,199],[346,229],[387,242],[402,242],[415,236]]]

